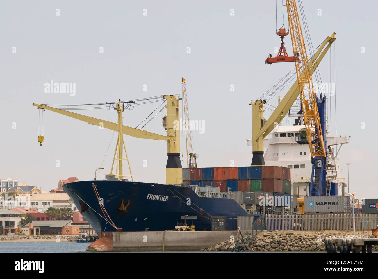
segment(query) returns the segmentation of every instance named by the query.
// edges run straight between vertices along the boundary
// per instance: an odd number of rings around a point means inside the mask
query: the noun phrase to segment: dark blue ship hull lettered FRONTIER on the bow
[[[210,231],[212,216],[249,215],[233,199],[199,197],[190,187],[104,180],[67,183],[63,188],[99,236],[117,231],[108,221],[121,231],[165,231],[183,223],[181,216],[195,215],[197,219],[187,224],[196,231]]]

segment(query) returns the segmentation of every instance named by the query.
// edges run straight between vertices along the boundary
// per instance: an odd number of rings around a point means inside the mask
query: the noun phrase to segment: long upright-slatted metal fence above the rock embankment
[[[378,225],[378,214],[356,214],[356,231],[370,231]],[[299,214],[266,215],[268,231],[324,231],[326,229],[347,231],[353,229],[351,214]]]

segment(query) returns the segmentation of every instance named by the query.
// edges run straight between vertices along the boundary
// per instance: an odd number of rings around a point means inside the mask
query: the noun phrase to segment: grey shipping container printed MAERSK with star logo
[[[305,196],[305,213],[349,212],[349,196]]]

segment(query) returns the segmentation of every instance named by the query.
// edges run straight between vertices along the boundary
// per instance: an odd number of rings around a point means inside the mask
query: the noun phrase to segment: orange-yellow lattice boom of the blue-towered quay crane
[[[312,83],[310,65],[304,43],[301,23],[295,0],[286,0],[289,29],[291,31],[291,43],[294,55],[301,59],[301,63],[295,63],[299,90],[301,92],[301,104],[304,124],[306,127],[307,141],[310,147],[311,157],[326,157],[325,143],[319,118],[318,105]]]

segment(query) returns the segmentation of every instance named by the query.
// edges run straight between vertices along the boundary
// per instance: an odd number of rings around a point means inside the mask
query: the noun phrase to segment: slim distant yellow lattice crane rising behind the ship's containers
[[[186,85],[184,77],[181,79],[181,83],[183,84],[183,102],[184,102],[184,123],[185,123],[185,138],[186,138],[186,163],[189,169],[197,168],[197,158],[198,155],[193,151],[193,144],[192,144],[192,131],[190,129],[190,122],[189,122],[189,110],[188,110],[188,103],[186,98]],[[184,153],[183,153],[184,157]]]

